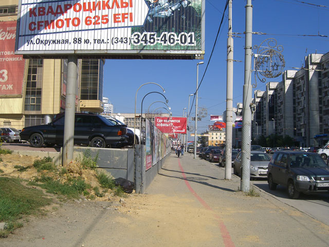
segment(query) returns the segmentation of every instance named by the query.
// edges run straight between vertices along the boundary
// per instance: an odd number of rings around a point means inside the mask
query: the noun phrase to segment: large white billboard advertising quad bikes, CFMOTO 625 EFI
[[[203,0],[21,0],[16,53],[203,59],[204,7]]]

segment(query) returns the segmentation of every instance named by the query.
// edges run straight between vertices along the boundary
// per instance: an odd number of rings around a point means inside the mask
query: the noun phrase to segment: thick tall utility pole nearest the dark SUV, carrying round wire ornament
[[[252,4],[246,5],[245,35],[245,82],[243,85],[243,116],[242,116],[242,176],[241,190],[249,191],[250,187],[250,149],[251,149],[251,56],[252,56]]]

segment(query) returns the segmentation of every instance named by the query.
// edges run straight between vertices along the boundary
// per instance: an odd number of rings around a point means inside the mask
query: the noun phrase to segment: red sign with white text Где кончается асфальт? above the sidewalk
[[[162,133],[186,134],[186,117],[155,117],[155,126]]]

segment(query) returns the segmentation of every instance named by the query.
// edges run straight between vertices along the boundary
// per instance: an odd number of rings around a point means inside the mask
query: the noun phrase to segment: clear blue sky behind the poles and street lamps
[[[304,2],[304,3],[302,3]],[[215,37],[220,26],[225,0],[206,0],[206,48],[205,62],[199,65],[199,81],[203,77],[206,64]],[[234,38],[233,68],[233,107],[242,102],[244,84],[244,30],[245,0],[233,0],[232,29],[241,38]],[[283,46],[285,69],[301,67],[304,56],[317,52],[329,52],[328,37],[309,37],[322,34],[329,36],[329,1],[327,0],[253,0],[254,32],[268,35],[253,35],[252,44],[260,45],[268,38],[277,40]],[[323,5],[326,7],[316,7]],[[207,108],[208,116],[198,121],[198,133],[208,129],[213,121],[210,115],[222,115],[226,110],[226,42],[228,30],[228,12],[225,12],[224,23],[212,55],[204,80],[198,91],[198,107]],[[304,36],[306,35],[306,36]],[[173,116],[182,116],[188,107],[189,94],[196,90],[196,64],[200,60],[106,60],[104,67],[103,96],[114,104],[115,113],[134,113],[135,94],[140,85],[155,82],[166,90],[168,105]],[[281,81],[281,76],[267,80]],[[254,82],[252,75],[252,82]],[[265,83],[259,82],[257,90],[265,90]],[[138,91],[136,112],[140,113],[141,100],[145,94],[161,89],[148,84]],[[162,93],[162,92],[161,92]],[[192,102],[193,97],[191,97]],[[143,112],[154,101],[164,101],[159,94],[150,94],[144,99]],[[152,104],[151,109],[165,107],[162,103]],[[190,106],[191,108],[191,106]],[[163,110],[163,112],[166,112]],[[195,113],[194,105],[191,115]],[[194,125],[194,123],[192,123]]]

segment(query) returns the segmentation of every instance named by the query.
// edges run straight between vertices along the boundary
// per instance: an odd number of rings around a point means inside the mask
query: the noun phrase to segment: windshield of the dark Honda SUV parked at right
[[[327,167],[327,164],[317,154],[291,154],[290,167]]]

